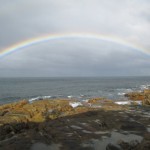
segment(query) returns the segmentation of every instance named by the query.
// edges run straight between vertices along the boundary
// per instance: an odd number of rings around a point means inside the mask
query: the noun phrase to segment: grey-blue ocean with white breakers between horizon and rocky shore
[[[150,77],[0,78],[0,104],[69,98],[125,100],[125,93],[150,88]]]

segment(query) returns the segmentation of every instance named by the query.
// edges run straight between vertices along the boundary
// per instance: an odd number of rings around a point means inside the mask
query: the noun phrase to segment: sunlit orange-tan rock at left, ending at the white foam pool
[[[12,122],[43,122],[46,119],[73,114],[69,100],[20,101],[0,106],[0,124]]]

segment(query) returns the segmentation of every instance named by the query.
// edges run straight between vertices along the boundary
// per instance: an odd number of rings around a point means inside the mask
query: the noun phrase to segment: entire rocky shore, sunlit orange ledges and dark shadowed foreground
[[[149,150],[150,90],[125,96],[1,105],[0,150]]]

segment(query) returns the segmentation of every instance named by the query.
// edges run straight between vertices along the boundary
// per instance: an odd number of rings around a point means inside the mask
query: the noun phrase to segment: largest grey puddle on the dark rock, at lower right
[[[83,147],[92,147],[92,148],[94,148],[94,150],[99,150],[99,148],[106,149],[106,146],[109,143],[117,144],[120,140],[122,140],[124,142],[130,142],[133,140],[137,140],[137,141],[141,142],[142,139],[143,139],[143,137],[135,135],[135,134],[124,135],[124,134],[121,134],[118,132],[112,132],[111,137],[102,138],[101,140],[92,139],[90,141],[83,143],[82,146]]]

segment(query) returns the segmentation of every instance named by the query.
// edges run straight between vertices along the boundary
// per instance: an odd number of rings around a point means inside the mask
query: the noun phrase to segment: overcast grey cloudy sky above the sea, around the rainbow
[[[47,34],[112,39],[59,38],[28,46],[0,58],[0,77],[150,76],[149,0],[0,3],[0,52]],[[129,44],[114,42],[113,37]]]

